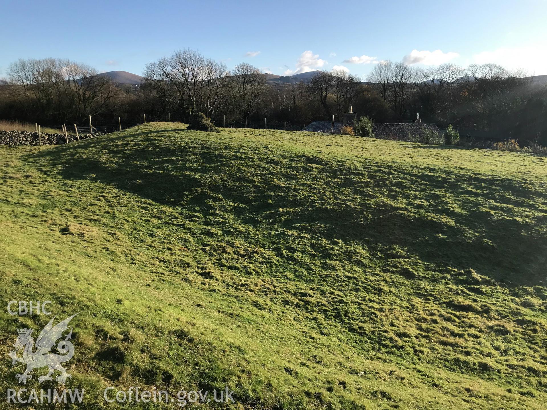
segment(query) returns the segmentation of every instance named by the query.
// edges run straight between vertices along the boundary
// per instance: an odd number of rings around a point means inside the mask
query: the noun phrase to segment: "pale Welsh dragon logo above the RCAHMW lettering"
[[[19,336],[17,337],[17,341],[13,344],[15,350],[11,350],[11,352],[9,352],[9,356],[11,358],[12,365],[14,365],[15,362],[18,361],[27,365],[25,372],[22,374],[17,374],[16,376],[19,379],[19,383],[26,384],[27,379],[32,378],[31,372],[34,368],[45,366],[48,366],[49,368],[48,375],[38,377],[39,383],[45,382],[45,380],[53,380],[51,374],[53,374],[55,370],[61,372],[61,374],[56,378],[57,382],[59,383],[65,383],[66,379],[68,377],[71,377],[71,375],[67,373],[65,368],[61,366],[61,363],[72,359],[72,356],[74,356],[74,345],[72,344],[72,342],[69,341],[69,339],[72,338],[72,327],[70,333],[68,333],[65,339],[57,343],[57,351],[60,354],[51,353],[51,348],[53,347],[57,339],[63,337],[63,332],[68,329],[68,322],[75,315],[66,318],[62,322],[57,323],[55,326],[53,325],[53,321],[55,320],[56,316],[51,319],[38,335],[38,338],[36,339],[36,347],[38,349],[35,351],[33,351],[34,338],[31,336],[33,330],[17,330]],[[16,355],[16,351],[21,349],[23,350],[23,355],[22,357],[18,357]]]

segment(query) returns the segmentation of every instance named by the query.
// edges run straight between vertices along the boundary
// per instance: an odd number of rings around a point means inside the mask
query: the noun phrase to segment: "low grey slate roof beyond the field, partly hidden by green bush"
[[[334,123],[334,133],[339,134],[340,129],[344,124],[341,122]],[[425,130],[439,132],[440,130],[435,124],[405,124],[405,123],[393,123],[393,124],[374,124],[373,132],[378,138],[390,138],[390,139],[405,139],[409,133],[412,136],[422,136]],[[306,131],[313,132],[331,132],[330,121],[313,121],[306,127]]]

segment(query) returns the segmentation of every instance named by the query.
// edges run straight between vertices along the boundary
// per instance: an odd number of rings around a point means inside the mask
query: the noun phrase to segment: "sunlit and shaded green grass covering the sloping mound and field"
[[[0,303],[82,311],[86,407],[545,408],[546,158],[184,128],[0,149]],[[0,318],[5,391],[15,328],[50,317]]]

